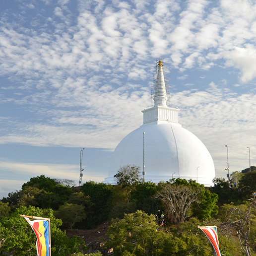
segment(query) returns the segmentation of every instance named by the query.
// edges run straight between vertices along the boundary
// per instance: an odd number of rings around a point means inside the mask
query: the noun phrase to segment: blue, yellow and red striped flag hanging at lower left
[[[29,223],[33,231],[35,232],[37,242],[37,256],[51,256],[51,240],[50,240],[50,219],[40,218],[40,217],[32,217],[32,216],[24,216],[25,220]],[[30,218],[39,218],[36,220],[30,220]]]

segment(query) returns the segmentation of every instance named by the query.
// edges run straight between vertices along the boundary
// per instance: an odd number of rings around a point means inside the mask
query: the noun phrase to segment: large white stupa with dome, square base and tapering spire
[[[154,101],[154,107],[142,111],[143,125],[130,132],[116,147],[109,178],[104,183],[115,184],[114,175],[124,165],[139,166],[142,174],[144,162],[145,181],[159,183],[182,178],[212,186],[215,169],[209,151],[200,139],[178,123],[179,109],[166,105],[161,61]]]

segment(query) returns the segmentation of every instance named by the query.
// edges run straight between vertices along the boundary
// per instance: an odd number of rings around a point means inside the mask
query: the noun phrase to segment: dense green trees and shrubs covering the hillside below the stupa
[[[230,186],[212,188],[173,179],[142,182],[138,168],[125,166],[116,186],[44,175],[0,200],[0,255],[34,256],[36,237],[20,214],[51,219],[52,256],[89,255],[84,241],[67,229],[91,229],[110,222],[108,238],[91,256],[210,256],[213,249],[198,225],[217,225],[225,256],[256,256],[256,168],[231,175]],[[97,252],[98,251],[98,252]],[[113,254],[113,253],[110,253]],[[110,255],[109,254],[109,255]]]

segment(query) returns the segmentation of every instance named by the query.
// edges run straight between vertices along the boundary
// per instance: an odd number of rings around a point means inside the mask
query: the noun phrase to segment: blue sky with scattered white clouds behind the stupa
[[[108,176],[151,107],[163,58],[170,107],[217,177],[256,165],[256,4],[249,0],[0,0],[0,197],[31,177]]]

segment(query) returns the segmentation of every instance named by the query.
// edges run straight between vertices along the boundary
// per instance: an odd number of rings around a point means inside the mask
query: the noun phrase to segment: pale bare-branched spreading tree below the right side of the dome
[[[199,194],[203,188],[190,186],[189,182],[177,179],[173,184],[161,183],[157,197],[162,201],[168,219],[173,223],[184,222],[190,214],[192,204],[199,202]]]

